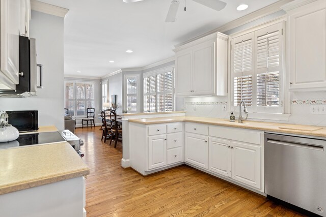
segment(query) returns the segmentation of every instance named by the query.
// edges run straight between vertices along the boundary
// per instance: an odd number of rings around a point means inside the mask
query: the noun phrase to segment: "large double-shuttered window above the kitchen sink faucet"
[[[232,39],[233,109],[282,113],[282,41],[282,22]]]

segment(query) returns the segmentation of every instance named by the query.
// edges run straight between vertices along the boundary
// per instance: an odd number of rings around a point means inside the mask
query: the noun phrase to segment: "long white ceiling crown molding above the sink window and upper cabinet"
[[[281,11],[282,8],[285,4],[288,4],[290,2],[292,2],[293,0],[280,0],[274,4],[271,4],[271,5],[268,5],[264,8],[261,8],[257,11],[254,11],[250,14],[247,14],[245,16],[242,16],[238,19],[235,19],[235,20],[232,20],[231,22],[228,22],[218,28],[215,28],[213,30],[210,30],[209,32],[207,33],[204,33],[204,34],[201,34],[193,39],[190,39],[190,40],[187,40],[185,42],[182,42],[180,44],[177,44],[175,45],[174,47],[177,48],[177,47],[180,47],[181,45],[184,45],[184,44],[187,44],[189,42],[192,42],[192,41],[195,41],[197,39],[200,39],[202,37],[205,37],[205,36],[208,36],[208,35],[211,35],[213,33],[216,33],[216,32],[220,32],[220,33],[225,33],[227,32],[228,30],[231,30],[233,28],[236,28],[236,27],[239,27],[243,24],[247,24],[249,22],[252,22],[254,20],[257,20],[257,19],[260,19],[262,17],[265,17],[265,16],[268,16],[270,14],[273,14],[273,13],[276,13],[278,11]],[[304,0],[304,1],[307,1],[307,0]],[[315,1],[315,0],[308,0],[308,1]]]

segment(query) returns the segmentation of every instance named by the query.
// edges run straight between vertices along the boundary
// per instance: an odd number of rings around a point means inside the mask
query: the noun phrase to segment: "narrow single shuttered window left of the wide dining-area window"
[[[139,112],[138,82],[139,75],[125,75],[125,102],[124,107],[128,112]]]

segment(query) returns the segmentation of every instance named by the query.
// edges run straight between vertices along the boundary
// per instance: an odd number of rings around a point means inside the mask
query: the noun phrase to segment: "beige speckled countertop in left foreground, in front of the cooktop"
[[[88,175],[68,142],[0,150],[0,195]]]

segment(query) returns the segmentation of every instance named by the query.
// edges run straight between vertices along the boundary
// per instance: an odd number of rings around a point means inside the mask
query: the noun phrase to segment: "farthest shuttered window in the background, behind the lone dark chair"
[[[85,117],[86,109],[94,107],[94,82],[65,81],[65,108],[68,114]]]

